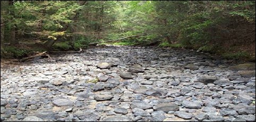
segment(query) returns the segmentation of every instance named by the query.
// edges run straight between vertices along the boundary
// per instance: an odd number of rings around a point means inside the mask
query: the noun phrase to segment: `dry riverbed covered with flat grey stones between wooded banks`
[[[255,121],[255,63],[209,56],[106,46],[1,67],[1,121]]]

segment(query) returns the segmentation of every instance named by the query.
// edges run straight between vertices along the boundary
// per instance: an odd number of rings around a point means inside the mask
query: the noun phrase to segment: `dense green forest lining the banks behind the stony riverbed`
[[[255,1],[1,1],[1,58],[125,37],[255,62]]]

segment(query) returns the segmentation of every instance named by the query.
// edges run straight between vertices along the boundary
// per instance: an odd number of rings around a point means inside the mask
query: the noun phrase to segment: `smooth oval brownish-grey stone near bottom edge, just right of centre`
[[[154,106],[153,109],[156,111],[164,111],[167,113],[169,111],[178,111],[179,107],[175,103],[159,103]]]

